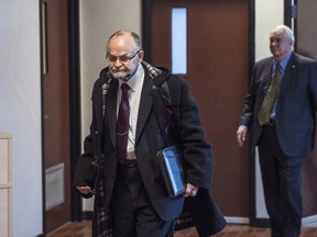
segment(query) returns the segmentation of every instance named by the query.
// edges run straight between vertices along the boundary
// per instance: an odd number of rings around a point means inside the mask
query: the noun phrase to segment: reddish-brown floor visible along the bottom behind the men
[[[47,234],[47,237],[90,237],[89,221],[68,223],[55,232]],[[227,227],[215,235],[218,237],[270,237],[269,228],[253,228],[248,225],[227,225]],[[317,236],[317,227],[303,227],[300,237]],[[175,237],[198,237],[195,228],[175,233]]]

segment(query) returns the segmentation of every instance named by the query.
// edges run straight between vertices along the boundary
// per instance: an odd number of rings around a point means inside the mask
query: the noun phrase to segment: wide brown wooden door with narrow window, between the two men
[[[143,21],[151,22],[145,58],[168,68],[172,9],[187,9],[187,72],[182,77],[190,84],[214,148],[211,193],[226,216],[249,216],[248,147],[236,142],[249,84],[249,0],[145,2],[149,18],[144,14]]]

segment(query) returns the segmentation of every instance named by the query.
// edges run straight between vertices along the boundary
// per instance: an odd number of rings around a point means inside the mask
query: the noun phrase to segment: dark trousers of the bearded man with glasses
[[[118,165],[111,208],[118,237],[172,237],[174,221],[162,221],[152,207],[138,166]]]

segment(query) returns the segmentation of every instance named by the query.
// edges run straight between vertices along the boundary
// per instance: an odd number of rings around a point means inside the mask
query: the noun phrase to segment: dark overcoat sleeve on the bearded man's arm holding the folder
[[[176,80],[177,81],[177,80]],[[178,80],[181,90],[172,90],[178,106],[176,116],[181,132],[181,143],[184,147],[184,158],[187,167],[187,182],[200,188],[211,188],[214,156],[210,144],[200,122],[199,110],[196,101],[190,95],[188,84]],[[173,87],[172,87],[173,89]],[[177,92],[178,91],[178,92]]]

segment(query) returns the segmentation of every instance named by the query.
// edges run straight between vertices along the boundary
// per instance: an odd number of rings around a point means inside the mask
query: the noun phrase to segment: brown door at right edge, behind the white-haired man
[[[297,18],[295,20],[295,50],[302,55],[317,60],[317,4],[316,0],[300,0],[297,5]],[[316,78],[317,80],[317,78]],[[303,167],[303,204],[304,217],[315,216],[310,221],[317,221],[317,138],[315,139],[315,150],[305,159]],[[309,219],[307,221],[309,222]]]

